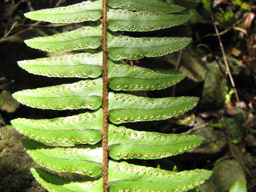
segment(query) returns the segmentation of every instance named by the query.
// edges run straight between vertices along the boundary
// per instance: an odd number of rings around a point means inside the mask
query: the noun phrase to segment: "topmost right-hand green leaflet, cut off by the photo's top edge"
[[[159,0],[108,0],[108,5],[112,8],[154,13],[176,13],[185,9],[184,7],[168,4]]]

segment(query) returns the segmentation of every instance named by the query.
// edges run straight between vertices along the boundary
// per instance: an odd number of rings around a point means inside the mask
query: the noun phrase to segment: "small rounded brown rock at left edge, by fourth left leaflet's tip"
[[[0,110],[13,113],[19,105],[20,103],[13,99],[12,94],[9,91],[4,90],[0,93]]]

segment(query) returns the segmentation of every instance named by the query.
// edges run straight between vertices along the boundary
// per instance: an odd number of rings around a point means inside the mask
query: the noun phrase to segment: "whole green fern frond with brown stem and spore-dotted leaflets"
[[[55,172],[88,176],[68,180],[43,169],[31,169],[47,190],[187,191],[210,177],[211,171],[207,170],[175,172],[117,161],[170,157],[203,141],[198,135],[135,131],[117,126],[175,117],[197,105],[195,97],[154,99],[112,92],[161,90],[185,78],[178,71],[134,67],[120,60],[160,57],[181,50],[190,43],[190,38],[138,38],[115,33],[180,25],[189,20],[189,15],[173,13],[183,9],[160,0],[98,0],[25,14],[27,18],[52,23],[101,21],[95,26],[25,41],[28,46],[43,51],[89,49],[85,53],[18,62],[20,67],[36,75],[92,78],[13,94],[19,102],[34,108],[91,110],[54,119],[12,120],[21,134],[32,139],[22,142],[39,165]],[[92,53],[91,49],[96,50]]]

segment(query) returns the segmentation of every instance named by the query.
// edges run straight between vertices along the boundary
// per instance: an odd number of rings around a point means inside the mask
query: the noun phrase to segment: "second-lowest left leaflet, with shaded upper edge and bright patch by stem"
[[[50,147],[33,140],[22,140],[33,160],[47,169],[97,177],[101,174],[102,147]]]

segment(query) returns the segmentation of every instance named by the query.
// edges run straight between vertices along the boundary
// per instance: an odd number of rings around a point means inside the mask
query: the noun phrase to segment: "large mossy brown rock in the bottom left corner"
[[[2,127],[0,141],[0,191],[46,192],[31,175],[30,167],[37,166],[23,149],[20,135],[11,125]]]

